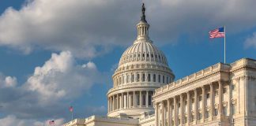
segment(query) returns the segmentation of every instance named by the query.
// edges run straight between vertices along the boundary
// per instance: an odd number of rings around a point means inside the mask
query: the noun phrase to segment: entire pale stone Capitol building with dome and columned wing
[[[107,116],[64,126],[256,125],[256,60],[217,63],[174,81],[168,59],[149,39],[144,5],[141,11],[137,39],[112,76]]]

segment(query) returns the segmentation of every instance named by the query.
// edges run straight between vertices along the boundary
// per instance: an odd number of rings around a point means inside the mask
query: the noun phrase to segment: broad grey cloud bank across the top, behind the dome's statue
[[[255,26],[254,0],[147,0],[146,17],[156,43],[179,35],[201,38],[226,24],[228,32]],[[33,0],[0,17],[0,45],[29,53],[35,48],[70,50],[76,57],[96,57],[115,46],[131,44],[140,18],[137,0]],[[214,10],[214,11],[213,11]]]

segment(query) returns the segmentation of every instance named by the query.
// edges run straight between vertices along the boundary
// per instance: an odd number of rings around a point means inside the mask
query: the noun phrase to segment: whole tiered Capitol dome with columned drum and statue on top
[[[108,117],[133,117],[152,113],[156,88],[173,82],[175,76],[167,58],[149,39],[149,24],[142,6],[137,39],[128,47],[115,70],[113,87],[107,92]]]

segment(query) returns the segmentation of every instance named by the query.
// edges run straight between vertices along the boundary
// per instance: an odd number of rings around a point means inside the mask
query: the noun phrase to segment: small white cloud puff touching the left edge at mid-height
[[[17,85],[16,77],[0,75],[0,88],[15,87]]]

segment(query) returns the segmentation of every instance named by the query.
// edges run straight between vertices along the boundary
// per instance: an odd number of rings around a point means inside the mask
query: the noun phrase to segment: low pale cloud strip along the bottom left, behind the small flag
[[[64,119],[56,119],[55,120],[55,126],[60,126],[64,123]],[[45,121],[38,121],[38,120],[30,120],[30,119],[19,119],[16,116],[8,115],[4,118],[0,119],[0,124],[5,124],[5,126],[42,126],[42,125],[48,125],[49,120]]]

